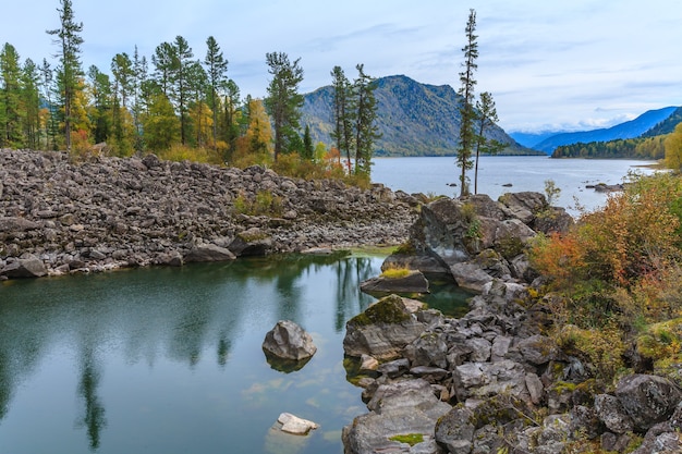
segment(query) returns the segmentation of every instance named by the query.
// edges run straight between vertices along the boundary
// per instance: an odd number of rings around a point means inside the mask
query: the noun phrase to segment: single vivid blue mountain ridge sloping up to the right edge
[[[617,124],[616,126],[594,131],[579,131],[575,133],[557,134],[546,138],[539,144],[536,144],[534,148],[551,155],[555,148],[560,145],[572,145],[577,143],[588,144],[590,142],[609,142],[620,138],[640,137],[658,123],[670,118],[670,115],[672,115],[672,113],[677,110],[677,107],[648,110],[636,119]]]

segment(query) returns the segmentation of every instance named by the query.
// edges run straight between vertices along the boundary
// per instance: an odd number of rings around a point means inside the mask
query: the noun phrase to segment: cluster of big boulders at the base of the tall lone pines
[[[389,257],[385,266],[451,275],[458,285],[482,292],[496,279],[529,282],[525,248],[537,232],[565,231],[573,218],[550,207],[539,193],[439,198],[422,207],[410,231],[410,248]]]

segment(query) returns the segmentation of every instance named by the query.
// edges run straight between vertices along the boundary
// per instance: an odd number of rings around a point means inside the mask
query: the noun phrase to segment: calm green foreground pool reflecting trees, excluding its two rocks
[[[0,453],[342,453],[364,413],[345,321],[380,258],[279,257],[0,284]],[[301,370],[260,348],[280,319],[313,335]],[[320,428],[270,430],[282,412]]]

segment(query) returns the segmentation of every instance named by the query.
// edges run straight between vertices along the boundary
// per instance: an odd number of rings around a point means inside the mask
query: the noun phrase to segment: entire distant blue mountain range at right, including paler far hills
[[[668,134],[682,121],[682,108],[666,107],[648,110],[634,120],[593,131],[579,132],[545,132],[539,134],[511,133],[510,136],[527,147],[541,150],[548,155],[561,145],[590,142],[609,142],[623,138],[635,138]]]

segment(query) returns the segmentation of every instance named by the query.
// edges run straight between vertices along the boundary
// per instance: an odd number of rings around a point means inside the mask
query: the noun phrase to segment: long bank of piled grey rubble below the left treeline
[[[73,163],[0,150],[0,279],[397,245],[417,200],[245,170],[138,158]]]

